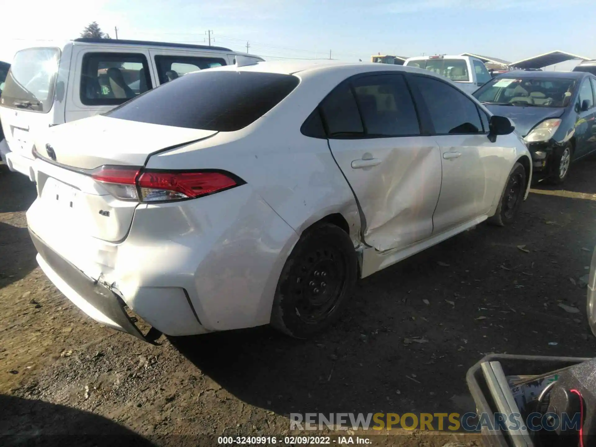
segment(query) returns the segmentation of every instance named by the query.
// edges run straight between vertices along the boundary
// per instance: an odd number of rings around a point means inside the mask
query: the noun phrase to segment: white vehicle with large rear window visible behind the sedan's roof
[[[469,94],[492,79],[485,64],[470,56],[418,56],[406,59],[403,65],[448,77]]]

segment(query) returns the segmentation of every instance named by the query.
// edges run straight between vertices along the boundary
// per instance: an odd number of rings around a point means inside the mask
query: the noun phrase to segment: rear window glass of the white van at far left
[[[54,101],[59,60],[58,48],[17,52],[2,89],[2,105],[47,113]]]

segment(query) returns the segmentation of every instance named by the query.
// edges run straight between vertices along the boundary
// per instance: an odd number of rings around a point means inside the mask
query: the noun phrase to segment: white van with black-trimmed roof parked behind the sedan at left
[[[34,181],[35,132],[97,115],[188,72],[235,64],[221,46],[116,39],[75,39],[18,51],[0,98],[10,170]]]

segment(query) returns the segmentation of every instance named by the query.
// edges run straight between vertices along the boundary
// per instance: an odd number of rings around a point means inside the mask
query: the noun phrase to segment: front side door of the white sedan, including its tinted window
[[[434,77],[409,79],[440,147],[443,180],[433,215],[439,233],[491,209],[505,169],[504,148],[489,141],[486,115],[458,89]]]

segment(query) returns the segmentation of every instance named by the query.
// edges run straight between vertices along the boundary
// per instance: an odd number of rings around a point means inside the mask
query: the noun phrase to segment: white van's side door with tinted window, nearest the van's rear
[[[147,49],[78,45],[72,57],[66,122],[104,113],[156,85]]]

